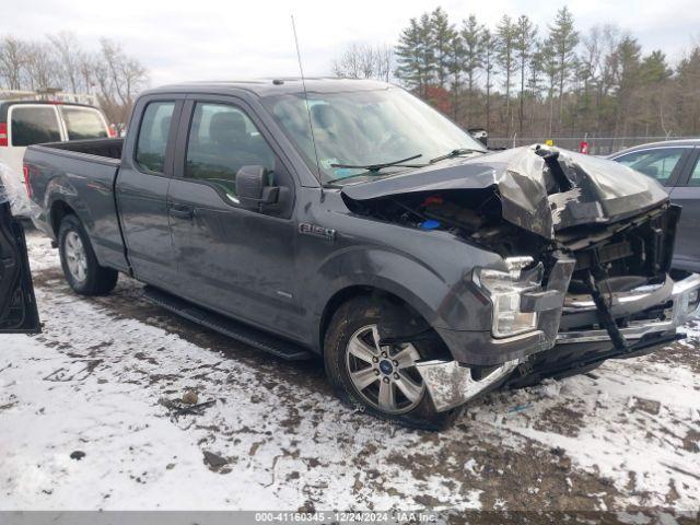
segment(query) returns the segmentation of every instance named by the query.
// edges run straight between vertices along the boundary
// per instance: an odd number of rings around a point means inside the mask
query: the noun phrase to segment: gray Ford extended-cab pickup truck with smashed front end
[[[662,348],[698,308],[657,183],[546,147],[488,152],[384,83],[171,85],[139,97],[125,139],[24,163],[75,292],[131,276],[232,338],[322,355],[341,399],[407,425]]]

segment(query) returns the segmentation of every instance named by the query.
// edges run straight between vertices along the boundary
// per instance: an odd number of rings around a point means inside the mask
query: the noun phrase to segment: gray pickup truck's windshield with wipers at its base
[[[303,94],[265,98],[264,104],[316,173],[310,116]],[[388,165],[381,172],[365,167],[417,156],[411,164],[454,150],[486,151],[483,145],[435,109],[404,90],[390,88],[350,93],[308,93],[308,108],[320,167],[320,182],[342,184],[359,175],[387,175],[410,170]],[[341,166],[335,166],[340,164]],[[348,183],[350,182],[348,180]]]

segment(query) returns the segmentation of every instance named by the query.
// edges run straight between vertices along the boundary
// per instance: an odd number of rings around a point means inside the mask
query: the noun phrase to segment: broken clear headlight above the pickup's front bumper
[[[539,289],[542,282],[542,264],[530,269],[532,257],[509,257],[509,271],[477,268],[474,280],[493,304],[493,337],[510,337],[537,327],[537,313],[521,312],[521,295]]]

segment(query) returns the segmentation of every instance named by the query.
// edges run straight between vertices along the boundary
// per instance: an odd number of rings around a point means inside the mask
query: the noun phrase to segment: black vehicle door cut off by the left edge
[[[39,315],[22,226],[3,200],[0,182],[0,334],[37,334]]]

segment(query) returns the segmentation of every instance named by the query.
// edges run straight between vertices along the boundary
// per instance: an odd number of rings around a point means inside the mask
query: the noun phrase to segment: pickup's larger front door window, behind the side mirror
[[[275,168],[275,153],[253,120],[234,106],[196,104],[185,177],[206,180],[237,203],[236,173],[247,165],[264,166],[270,173]]]

